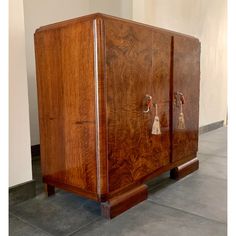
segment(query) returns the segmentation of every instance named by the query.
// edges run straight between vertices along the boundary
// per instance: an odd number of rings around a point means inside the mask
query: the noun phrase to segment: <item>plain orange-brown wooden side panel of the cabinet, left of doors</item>
[[[97,191],[93,21],[35,34],[43,176]]]

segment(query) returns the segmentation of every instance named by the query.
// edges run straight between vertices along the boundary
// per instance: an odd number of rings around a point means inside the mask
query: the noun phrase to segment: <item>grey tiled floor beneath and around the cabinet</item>
[[[10,235],[227,235],[227,129],[202,134],[200,169],[180,181],[168,173],[152,180],[148,200],[106,220],[99,205],[57,190],[47,198],[40,161],[33,161],[37,197],[10,206]]]

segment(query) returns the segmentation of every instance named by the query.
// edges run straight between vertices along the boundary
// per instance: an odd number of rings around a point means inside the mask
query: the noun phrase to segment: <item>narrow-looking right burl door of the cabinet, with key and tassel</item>
[[[198,149],[200,42],[197,39],[174,36],[172,80],[171,159],[175,162],[195,157]]]

